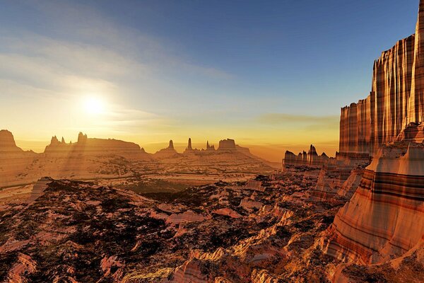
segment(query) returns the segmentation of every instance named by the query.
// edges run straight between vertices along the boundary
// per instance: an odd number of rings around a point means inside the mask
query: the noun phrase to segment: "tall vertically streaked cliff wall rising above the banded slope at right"
[[[396,42],[374,63],[370,95],[341,108],[340,154],[367,158],[395,141],[413,123],[424,122],[424,3],[415,35]],[[423,127],[418,127],[423,136]]]

